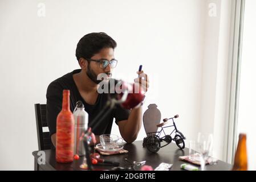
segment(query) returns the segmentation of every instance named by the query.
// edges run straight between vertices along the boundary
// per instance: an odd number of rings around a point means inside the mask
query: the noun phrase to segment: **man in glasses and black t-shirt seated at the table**
[[[56,144],[56,118],[62,110],[62,92],[63,89],[70,90],[70,109],[75,109],[77,101],[82,101],[84,108],[89,115],[88,127],[96,135],[99,142],[99,135],[110,134],[113,118],[115,118],[121,137],[132,143],[141,128],[142,108],[141,106],[131,110],[124,109],[117,105],[100,122],[94,121],[94,118],[105,106],[108,96],[107,93],[97,92],[97,86],[101,80],[97,80],[97,75],[105,73],[104,80],[110,80],[113,68],[116,67],[117,60],[114,56],[116,42],[107,34],[91,33],[83,36],[76,47],[76,59],[81,69],[76,69],[66,75],[51,82],[47,88],[47,123],[50,130],[52,144]],[[137,74],[141,74],[137,72]],[[144,74],[145,75],[145,74]],[[147,92],[148,78],[144,76],[145,81],[136,78],[135,82],[145,88]],[[93,122],[93,123],[92,123]],[[96,126],[96,127],[95,127]]]

